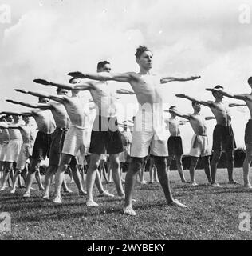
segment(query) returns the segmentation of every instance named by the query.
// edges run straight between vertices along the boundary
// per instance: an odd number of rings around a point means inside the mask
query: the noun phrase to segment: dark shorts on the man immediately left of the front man
[[[89,153],[118,154],[124,151],[117,118],[96,116],[93,122]]]

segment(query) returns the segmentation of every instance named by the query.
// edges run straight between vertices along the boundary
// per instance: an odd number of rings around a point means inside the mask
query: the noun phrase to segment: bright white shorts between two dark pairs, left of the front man
[[[65,134],[62,153],[76,157],[80,150],[81,155],[86,155],[89,148],[89,134],[88,129],[70,126],[69,130]]]

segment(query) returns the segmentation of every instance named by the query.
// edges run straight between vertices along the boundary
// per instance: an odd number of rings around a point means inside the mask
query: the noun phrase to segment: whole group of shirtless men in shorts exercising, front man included
[[[173,198],[168,177],[171,161],[175,159],[181,182],[187,182],[183,174],[183,145],[179,126],[189,122],[194,131],[189,153],[192,186],[197,186],[195,168],[200,157],[203,158],[209,185],[220,186],[216,180],[216,170],[222,152],[226,153],[229,183],[238,184],[234,180],[235,140],[229,108],[245,105],[250,110],[251,119],[245,130],[246,158],[243,163],[243,178],[244,187],[251,189],[249,174],[252,160],[252,93],[230,94],[222,86],[215,86],[207,89],[214,96],[214,101],[203,101],[185,94],[175,95],[191,101],[191,114],[181,113],[176,106],[163,110],[165,102],[160,90],[163,84],[187,82],[200,77],[175,78],[152,74],[153,54],[145,46],[139,46],[135,56],[140,66],[139,73],[115,74],[111,72],[111,64],[103,61],[97,64],[96,73],[69,73],[72,78],[68,83],[33,80],[43,86],[55,86],[56,94],[17,89],[20,93],[37,97],[38,101],[17,102],[8,99],[7,102],[29,107],[30,110],[1,112],[0,191],[6,190],[9,182],[9,186],[12,186],[10,192],[15,193],[17,186],[23,186],[23,178],[26,184],[23,197],[30,198],[33,180],[36,178],[39,189],[43,190],[43,199],[50,200],[49,188],[55,174],[53,202],[61,204],[61,187],[65,192],[71,193],[65,180],[65,172],[71,170],[79,194],[87,197],[86,205],[98,206],[93,198],[93,186],[96,185],[98,196],[114,197],[114,194],[104,190],[102,182],[102,177],[107,182],[112,177],[116,196],[124,200],[123,213],[136,215],[132,208],[133,188],[137,175],[139,181],[145,183],[144,169],[148,157],[150,183],[160,183],[167,205],[186,208],[187,206]],[[112,90],[109,81],[128,82],[132,90]],[[248,83],[251,87],[252,78],[249,78]],[[81,97],[80,91],[89,91],[92,99]],[[117,121],[117,94],[135,95],[133,97],[139,103],[139,110],[133,120],[121,123]],[[226,105],[222,102],[224,96],[242,100],[245,104]],[[202,106],[209,107],[213,116],[203,117],[200,114]],[[94,108],[96,117],[90,118],[90,110]],[[167,112],[171,114],[170,118],[167,117]],[[37,124],[37,134],[31,125],[31,117]],[[210,119],[217,122],[212,148],[208,142],[206,125],[206,121]],[[43,185],[40,165],[45,158],[49,158],[49,165]],[[122,170],[125,170],[125,165],[129,167],[124,181]],[[84,170],[86,188],[82,182]]]

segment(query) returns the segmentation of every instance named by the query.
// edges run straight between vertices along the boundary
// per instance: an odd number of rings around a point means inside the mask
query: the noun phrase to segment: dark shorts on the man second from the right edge
[[[235,148],[232,126],[216,125],[213,133],[213,150],[230,151]]]

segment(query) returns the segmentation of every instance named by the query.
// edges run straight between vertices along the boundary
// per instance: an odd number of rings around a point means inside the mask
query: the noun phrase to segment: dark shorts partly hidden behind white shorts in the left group
[[[52,142],[49,152],[49,166],[58,166],[61,160],[62,148],[64,145],[65,134],[68,131],[66,128],[56,128],[52,134]],[[73,157],[70,162],[71,165],[76,165],[77,159]]]

